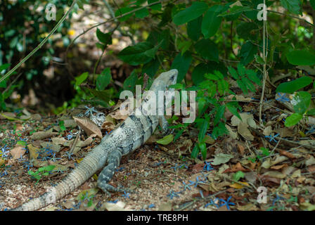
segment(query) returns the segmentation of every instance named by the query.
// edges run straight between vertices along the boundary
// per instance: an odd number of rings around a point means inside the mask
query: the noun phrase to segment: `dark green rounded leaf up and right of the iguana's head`
[[[210,39],[201,39],[195,44],[195,51],[206,60],[219,61],[219,50],[217,44]]]

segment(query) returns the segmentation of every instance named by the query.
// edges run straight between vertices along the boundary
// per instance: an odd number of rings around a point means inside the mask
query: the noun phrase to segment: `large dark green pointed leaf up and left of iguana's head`
[[[118,57],[130,65],[148,63],[155,57],[155,53],[158,51],[161,43],[157,46],[153,46],[153,44],[148,41],[140,42],[134,46],[128,46],[127,48],[122,49],[118,54]]]

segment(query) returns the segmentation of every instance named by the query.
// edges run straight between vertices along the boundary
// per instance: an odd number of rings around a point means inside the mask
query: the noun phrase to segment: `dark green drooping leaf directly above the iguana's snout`
[[[179,71],[177,83],[181,82],[181,80],[186,76],[192,59],[191,53],[188,51],[186,51],[183,56],[181,56],[181,53],[178,53],[174,58],[171,69],[177,69]]]

